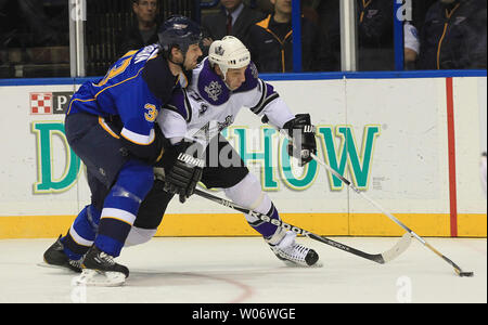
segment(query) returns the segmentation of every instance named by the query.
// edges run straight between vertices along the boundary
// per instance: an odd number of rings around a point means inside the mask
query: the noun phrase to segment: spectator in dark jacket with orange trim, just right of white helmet
[[[261,73],[293,72],[292,0],[271,0],[274,12],[249,29],[253,62]],[[320,29],[301,18],[301,55],[304,72],[325,72],[333,68]]]

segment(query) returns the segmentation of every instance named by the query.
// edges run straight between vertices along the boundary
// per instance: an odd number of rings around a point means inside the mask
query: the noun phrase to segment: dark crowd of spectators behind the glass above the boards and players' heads
[[[304,72],[341,70],[339,1],[301,0]],[[356,1],[358,70],[394,70],[394,0]],[[486,69],[486,0],[409,1],[404,69]],[[196,9],[191,0],[86,0],[87,75],[103,75],[127,51],[156,42],[158,25],[175,13],[201,23],[204,50],[233,35],[261,73],[293,72],[292,0],[214,2]],[[69,76],[67,3],[0,0],[0,78]]]

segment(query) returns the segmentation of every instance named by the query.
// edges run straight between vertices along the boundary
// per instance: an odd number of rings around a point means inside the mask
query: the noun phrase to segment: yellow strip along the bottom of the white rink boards
[[[395,213],[420,236],[449,237],[447,213]],[[403,230],[380,213],[283,213],[283,220],[324,236],[400,236]],[[0,217],[0,239],[65,235],[75,216]],[[257,236],[240,213],[166,214],[156,236]],[[458,214],[460,237],[486,237],[487,214]]]

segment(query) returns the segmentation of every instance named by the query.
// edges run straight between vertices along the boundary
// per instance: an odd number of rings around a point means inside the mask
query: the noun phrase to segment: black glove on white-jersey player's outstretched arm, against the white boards
[[[312,160],[311,154],[317,155],[316,127],[311,125],[309,114],[297,114],[294,119],[284,123],[283,129],[288,132],[288,155],[298,159],[304,166]]]

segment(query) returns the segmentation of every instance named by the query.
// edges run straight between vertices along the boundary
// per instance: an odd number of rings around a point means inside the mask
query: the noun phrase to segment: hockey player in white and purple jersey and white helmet
[[[207,188],[223,188],[226,196],[240,206],[280,219],[260,182],[220,135],[242,107],[248,107],[264,121],[285,129],[293,140],[288,154],[297,157],[300,165],[311,160],[310,153],[317,153],[310,116],[292,114],[273,87],[259,79],[245,46],[227,36],[213,42],[208,56],[193,70],[190,87],[177,90],[157,117],[163,134],[172,144],[162,159],[165,188],[179,195],[183,203],[202,181]],[[165,161],[171,162],[165,166]],[[297,244],[294,232],[249,214],[245,218],[279,259],[303,266],[318,264],[318,253]],[[131,235],[129,242],[130,238]]]

